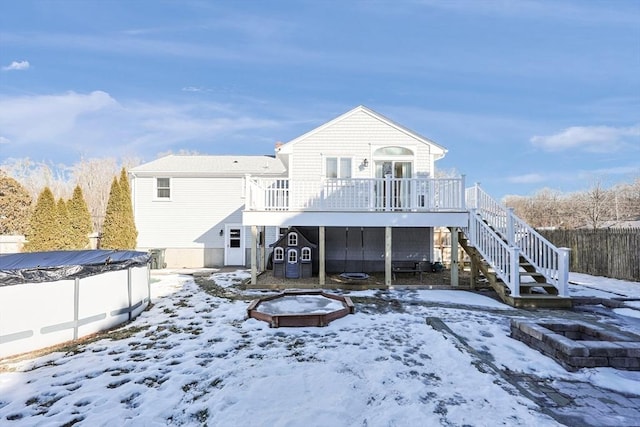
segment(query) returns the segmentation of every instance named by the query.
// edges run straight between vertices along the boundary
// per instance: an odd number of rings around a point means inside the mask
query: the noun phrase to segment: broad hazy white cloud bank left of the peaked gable
[[[290,126],[277,113],[226,104],[116,100],[102,91],[0,96],[3,155],[71,164],[82,155],[153,158],[162,151],[265,154]],[[4,141],[0,141],[4,142]]]

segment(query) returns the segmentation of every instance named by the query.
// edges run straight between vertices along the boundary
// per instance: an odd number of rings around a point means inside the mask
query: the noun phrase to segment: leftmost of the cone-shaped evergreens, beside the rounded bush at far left
[[[38,196],[36,207],[31,215],[26,252],[51,251],[59,249],[57,241],[58,210],[53,193],[49,187]]]

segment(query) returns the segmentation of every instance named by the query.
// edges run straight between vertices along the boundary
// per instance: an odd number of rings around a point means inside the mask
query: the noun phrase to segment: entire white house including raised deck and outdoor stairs
[[[436,178],[446,152],[359,106],[278,144],[275,157],[168,156],[131,170],[138,245],[166,248],[168,266],[247,265],[255,283],[269,245],[295,227],[317,246],[320,285],[339,272],[384,272],[391,285],[395,265],[434,261],[434,227],[448,227],[505,298],[530,294],[521,272],[566,298],[566,251],[464,176]],[[299,262],[293,249],[277,255]]]

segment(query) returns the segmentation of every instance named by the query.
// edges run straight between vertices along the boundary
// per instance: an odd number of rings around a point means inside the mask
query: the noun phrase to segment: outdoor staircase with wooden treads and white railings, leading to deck
[[[468,200],[475,208],[458,241],[471,260],[472,286],[480,273],[513,307],[571,308],[568,252],[546,241],[479,188],[470,190],[474,194],[468,194]]]

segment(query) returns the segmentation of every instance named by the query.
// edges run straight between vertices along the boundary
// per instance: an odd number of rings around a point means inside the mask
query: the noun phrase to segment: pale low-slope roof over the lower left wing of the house
[[[271,156],[205,156],[171,154],[129,170],[137,176],[282,175],[284,165]]]

